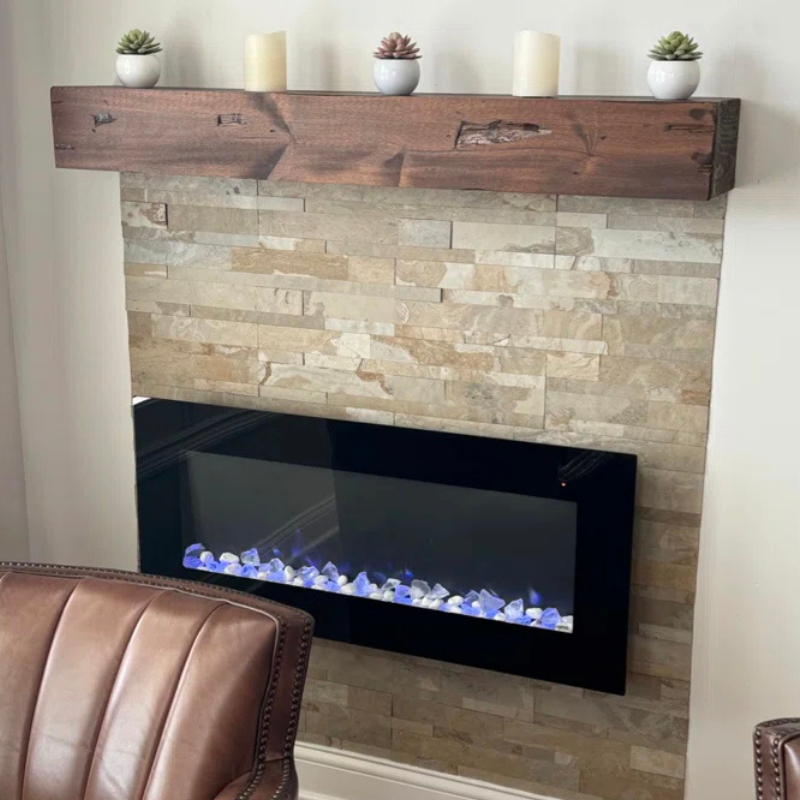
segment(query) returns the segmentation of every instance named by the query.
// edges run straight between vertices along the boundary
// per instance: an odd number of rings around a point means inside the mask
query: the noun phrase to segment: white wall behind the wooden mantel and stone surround
[[[369,89],[401,28],[422,91],[506,92],[517,28],[564,39],[564,93],[645,93],[645,53],[690,28],[705,94],[745,99],[720,305],[701,548],[688,797],[752,796],[750,728],[800,711],[800,10],[788,0],[5,0],[0,190],[6,215],[31,547],[135,563],[115,176],[51,168],[47,88],[108,83],[130,27],[166,45],[164,83],[238,86],[246,33],[287,28],[292,88]],[[624,22],[622,22],[624,21]],[[98,335],[98,331],[100,334]],[[793,578],[795,580],[793,580]]]

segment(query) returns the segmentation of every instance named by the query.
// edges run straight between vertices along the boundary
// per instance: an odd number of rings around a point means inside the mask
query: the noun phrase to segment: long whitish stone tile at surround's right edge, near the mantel
[[[558,228],[556,254],[719,264],[722,237],[664,231]]]

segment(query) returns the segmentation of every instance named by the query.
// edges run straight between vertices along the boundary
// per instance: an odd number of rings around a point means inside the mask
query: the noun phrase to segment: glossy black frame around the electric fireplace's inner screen
[[[339,469],[576,502],[575,626],[573,633],[562,633],[183,567],[184,454],[225,453],[236,440],[236,454],[242,455],[248,430],[274,416],[170,400],[134,407],[143,572],[245,590],[302,608],[315,617],[322,638],[624,694],[636,456],[304,418],[324,426]],[[474,456],[476,448],[480,459],[467,461],[465,453]],[[300,458],[296,463],[312,464],[318,456],[306,449]],[[330,466],[330,453],[323,458]]]

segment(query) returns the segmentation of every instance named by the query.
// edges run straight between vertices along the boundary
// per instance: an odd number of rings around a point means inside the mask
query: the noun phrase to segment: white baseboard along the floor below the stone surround
[[[332,747],[298,744],[300,800],[553,800]]]

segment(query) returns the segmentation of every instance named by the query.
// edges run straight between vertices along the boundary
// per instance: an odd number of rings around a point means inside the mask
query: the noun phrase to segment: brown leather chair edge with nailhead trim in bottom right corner
[[[800,718],[762,722],[753,748],[757,800],[800,800]]]

